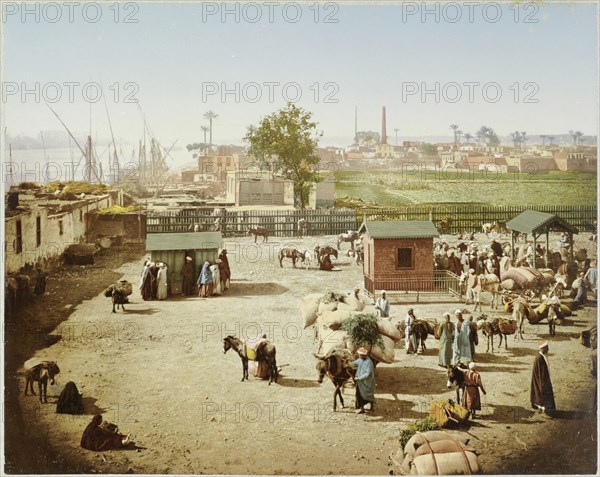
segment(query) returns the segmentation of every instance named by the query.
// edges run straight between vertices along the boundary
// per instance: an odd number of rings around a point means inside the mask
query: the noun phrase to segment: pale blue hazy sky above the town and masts
[[[242,144],[288,100],[321,145],[352,143],[355,110],[359,131],[380,131],[383,106],[392,144],[450,124],[598,130],[597,2],[24,5],[2,3],[12,136],[61,130],[48,103],[82,144],[110,137],[107,117],[118,142],[136,144],[144,118],[163,144],[201,142],[207,111],[213,143]]]

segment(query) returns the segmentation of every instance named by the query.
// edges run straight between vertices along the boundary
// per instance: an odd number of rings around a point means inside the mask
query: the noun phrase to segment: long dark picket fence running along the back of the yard
[[[595,230],[597,218],[595,205],[582,206],[478,206],[450,204],[433,206],[407,206],[388,209],[307,209],[307,210],[243,210],[229,211],[214,208],[183,209],[173,212],[149,212],[147,232],[187,232],[194,225],[200,230],[210,230],[215,220],[221,220],[221,232],[225,237],[246,235],[249,227],[267,227],[274,237],[294,237],[298,234],[298,220],[309,223],[307,235],[337,235],[357,230],[366,220],[432,220],[438,223],[448,220],[446,233],[481,232],[481,225],[495,220],[508,222],[521,212],[532,209],[558,215],[579,229],[580,232]]]

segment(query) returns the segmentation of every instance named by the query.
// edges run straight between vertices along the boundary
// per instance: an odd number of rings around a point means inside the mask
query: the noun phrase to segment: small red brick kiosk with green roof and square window
[[[365,290],[374,296],[386,291],[434,291],[433,239],[439,237],[431,221],[365,221]]]

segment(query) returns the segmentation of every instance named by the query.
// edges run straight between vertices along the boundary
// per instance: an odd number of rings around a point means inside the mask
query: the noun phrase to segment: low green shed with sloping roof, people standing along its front
[[[211,264],[219,256],[223,245],[221,232],[152,233],[146,236],[146,251],[153,262],[164,262],[168,267],[171,293],[181,293],[181,269],[185,257],[192,257],[194,276],[200,274],[205,260]]]

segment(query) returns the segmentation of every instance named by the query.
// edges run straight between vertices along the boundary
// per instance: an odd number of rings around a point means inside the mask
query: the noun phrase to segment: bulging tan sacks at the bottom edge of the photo
[[[467,475],[481,473],[475,449],[464,432],[418,432],[389,458],[390,475]]]

